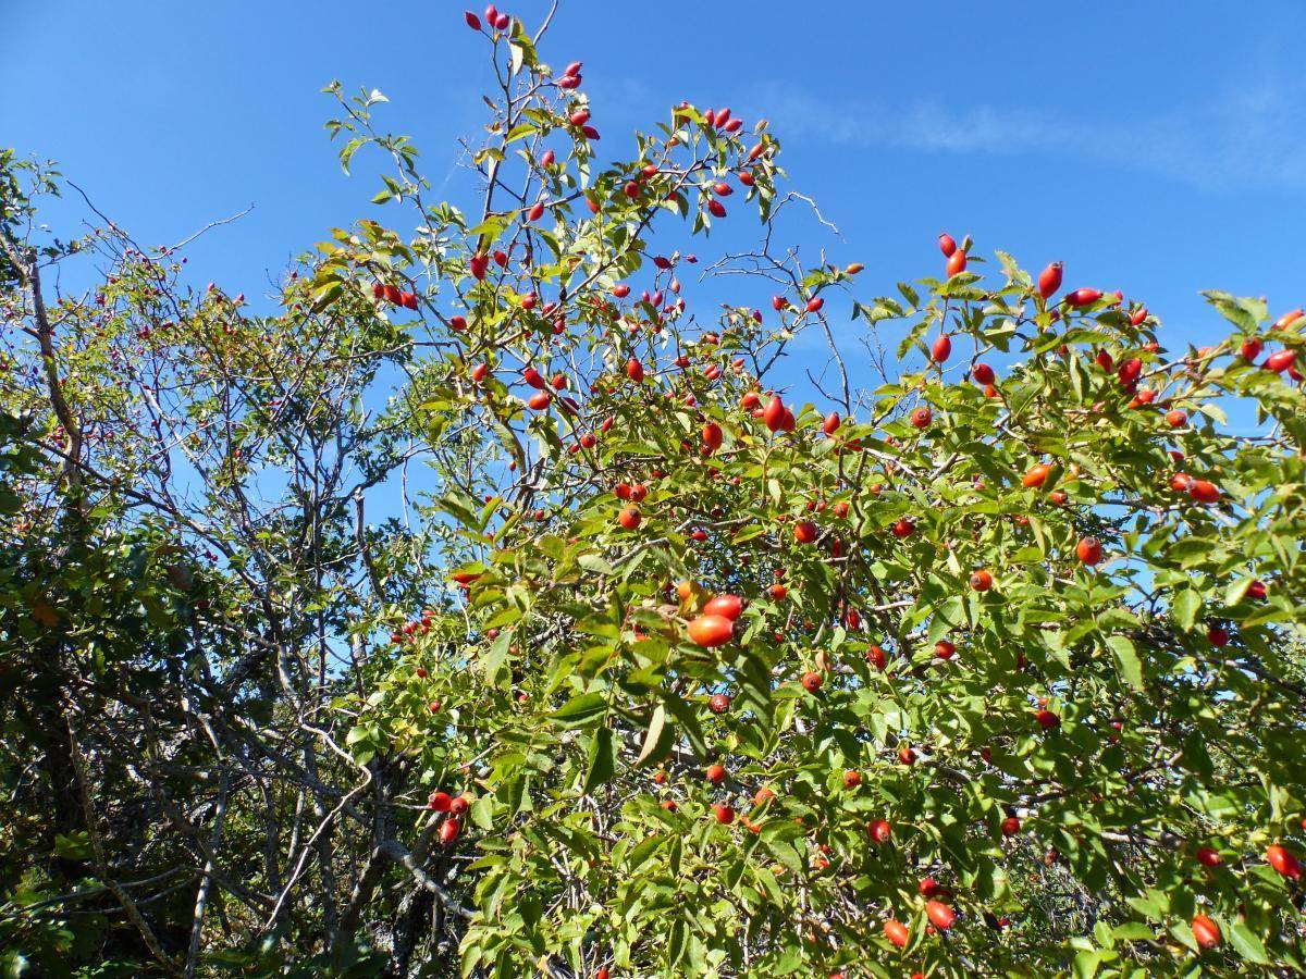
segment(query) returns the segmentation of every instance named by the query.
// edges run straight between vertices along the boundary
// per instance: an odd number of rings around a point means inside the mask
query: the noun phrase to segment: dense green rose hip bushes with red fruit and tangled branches
[[[1306,967],[1306,316],[861,295],[764,123],[603,162],[485,21],[477,213],[332,85],[387,219],[270,312],[0,157],[5,974]]]

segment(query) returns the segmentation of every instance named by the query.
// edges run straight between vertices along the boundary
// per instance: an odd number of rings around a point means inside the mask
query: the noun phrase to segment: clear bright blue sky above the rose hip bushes
[[[546,7],[505,9],[534,23]],[[328,227],[389,217],[326,141],[332,78],[385,91],[384,124],[468,200],[456,146],[477,136],[490,69],[461,4],[0,8],[0,144],[60,161],[142,241],[253,204],[191,251],[195,274],[231,294],[266,292]],[[771,119],[793,187],[842,240],[810,219],[788,234],[808,260],[825,247],[865,262],[862,298],[938,274],[940,231],[972,234],[1027,268],[1063,260],[1067,287],[1143,299],[1178,347],[1222,330],[1199,288],[1267,295],[1279,312],[1306,300],[1302,37],[1306,4],[1286,1],[563,0],[543,55],[585,61],[613,154],[683,98]]]

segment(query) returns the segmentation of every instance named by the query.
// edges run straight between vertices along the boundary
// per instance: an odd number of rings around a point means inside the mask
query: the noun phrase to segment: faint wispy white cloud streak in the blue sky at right
[[[1067,117],[1021,107],[836,103],[773,86],[777,131],[814,141],[922,153],[1050,155],[1200,188],[1306,191],[1306,85],[1262,84],[1153,117]]]

